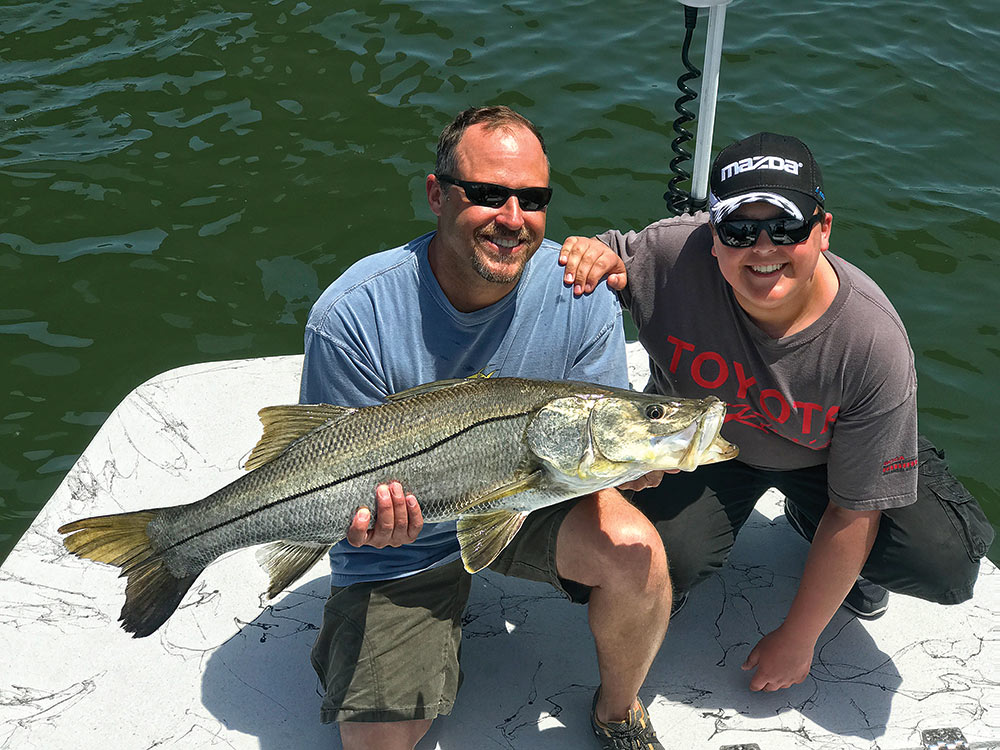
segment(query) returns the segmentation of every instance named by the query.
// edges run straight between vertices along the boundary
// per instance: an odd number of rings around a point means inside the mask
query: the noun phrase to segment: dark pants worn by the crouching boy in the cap
[[[940,604],[972,597],[979,560],[993,528],[944,454],[921,437],[917,501],[882,512],[878,536],[861,574],[889,591]],[[770,487],[785,495],[785,515],[811,540],[829,502],[826,466],[794,471],[755,469],[739,461],[668,474],[633,502],[653,521],[667,551],[675,593],[720,570],[758,498]]]

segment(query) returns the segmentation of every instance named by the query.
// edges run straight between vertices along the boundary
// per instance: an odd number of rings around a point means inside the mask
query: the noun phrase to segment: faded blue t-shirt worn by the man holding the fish
[[[628,387],[618,299],[605,284],[574,299],[562,283],[559,245],[545,240],[502,300],[462,313],[431,271],[433,236],[358,261],[323,292],[306,323],[300,403],[370,406],[478,373]],[[371,505],[374,493],[358,504]],[[455,523],[428,523],[402,547],[335,545],[331,582],[401,578],[458,557]]]

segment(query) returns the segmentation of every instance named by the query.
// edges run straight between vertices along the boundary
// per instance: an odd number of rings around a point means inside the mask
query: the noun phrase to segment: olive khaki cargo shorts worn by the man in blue
[[[531,513],[490,565],[544,581],[576,602],[590,590],[556,573],[556,535],[579,499]],[[320,719],[407,721],[451,712],[462,682],[462,614],[472,576],[460,560],[391,581],[333,588],[312,663],[323,686]]]

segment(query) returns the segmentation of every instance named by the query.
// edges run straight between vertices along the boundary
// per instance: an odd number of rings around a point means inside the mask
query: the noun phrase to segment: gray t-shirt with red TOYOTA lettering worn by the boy
[[[768,470],[827,464],[830,498],[852,510],[916,500],[913,352],[885,294],[825,254],[840,281],[803,331],[773,339],[739,306],[711,253],[707,214],[598,239],[624,260],[621,297],[650,355],[649,389],[729,405],[722,434]]]

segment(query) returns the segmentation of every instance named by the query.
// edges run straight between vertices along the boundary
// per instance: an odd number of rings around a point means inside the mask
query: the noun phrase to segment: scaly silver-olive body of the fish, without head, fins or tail
[[[454,518],[476,497],[538,468],[521,436],[552,398],[551,389],[524,381],[493,381],[506,386],[500,389],[476,387],[481,382],[359,409],[203,503],[164,509],[150,536],[165,541],[175,574],[276,538],[333,544],[360,505],[373,505],[375,486],[392,480],[420,498],[426,521]]]

